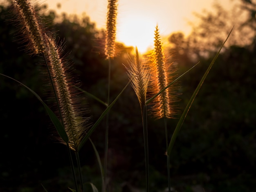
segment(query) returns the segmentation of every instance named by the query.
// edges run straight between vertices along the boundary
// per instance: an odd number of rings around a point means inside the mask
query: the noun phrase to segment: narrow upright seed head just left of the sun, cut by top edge
[[[108,0],[107,29],[105,42],[105,55],[107,58],[115,56],[117,22],[117,0]]]

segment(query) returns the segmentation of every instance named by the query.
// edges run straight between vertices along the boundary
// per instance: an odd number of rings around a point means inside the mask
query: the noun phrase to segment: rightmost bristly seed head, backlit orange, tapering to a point
[[[151,60],[151,78],[150,78],[150,92],[155,95],[160,92],[164,87],[171,83],[170,65],[166,63],[164,57],[164,50],[159,35],[158,26],[155,29],[154,51]],[[172,118],[175,114],[173,104],[173,96],[171,95],[172,86],[159,94],[153,100],[152,113],[156,118]]]

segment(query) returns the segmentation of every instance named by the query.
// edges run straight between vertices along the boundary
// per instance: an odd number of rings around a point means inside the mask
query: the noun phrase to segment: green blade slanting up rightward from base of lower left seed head
[[[105,109],[105,111],[101,114],[101,116],[98,118],[98,120],[94,123],[94,125],[91,127],[91,129],[88,131],[88,133],[85,135],[85,137],[82,139],[81,143],[78,146],[78,151],[83,147],[85,141],[91,136],[92,132],[94,132],[94,129],[99,125],[99,123],[102,121],[104,116],[108,113],[108,111],[111,109],[111,107],[116,103],[117,99],[121,96],[121,94],[124,92],[126,87],[130,84],[130,81],[126,84],[124,89],[119,93],[119,95],[113,100],[113,102]]]

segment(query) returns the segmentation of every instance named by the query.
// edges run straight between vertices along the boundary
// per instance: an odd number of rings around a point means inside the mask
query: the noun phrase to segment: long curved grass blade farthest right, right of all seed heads
[[[233,28],[234,28],[234,27],[233,27]],[[233,28],[232,28],[231,31],[229,32],[229,35],[231,34]],[[172,137],[171,137],[171,141],[170,141],[170,143],[169,143],[168,150],[167,150],[167,155],[170,155],[170,154],[171,154],[171,150],[172,150],[172,148],[173,148],[173,145],[174,145],[174,143],[175,143],[175,140],[176,140],[176,138],[177,138],[177,135],[178,135],[178,133],[180,132],[180,128],[181,128],[181,126],[182,126],[182,124],[183,124],[183,122],[184,122],[184,119],[186,118],[186,115],[187,115],[188,112],[189,112],[189,109],[190,109],[190,107],[191,107],[191,105],[192,105],[192,103],[193,103],[193,101],[194,101],[194,99],[195,99],[195,96],[198,94],[199,89],[201,88],[202,84],[204,83],[204,80],[205,80],[206,76],[208,75],[208,73],[209,73],[211,67],[213,66],[213,63],[215,62],[215,60],[216,60],[217,57],[219,56],[222,47],[224,46],[225,42],[226,42],[227,39],[229,38],[229,35],[227,36],[226,40],[223,42],[223,44],[222,44],[222,46],[220,47],[220,49],[219,49],[218,53],[216,54],[216,56],[215,56],[215,57],[213,58],[213,60],[211,61],[211,64],[209,65],[208,69],[205,71],[204,76],[203,76],[202,79],[200,80],[200,82],[199,82],[198,86],[196,87],[196,89],[195,89],[193,95],[191,96],[191,98],[190,98],[190,100],[189,100],[189,103],[186,105],[186,108],[184,109],[184,111],[183,111],[183,113],[182,113],[182,116],[180,117],[180,120],[179,120],[179,122],[177,123],[177,126],[176,126],[176,128],[175,128],[175,130],[174,130],[174,132],[173,132]]]

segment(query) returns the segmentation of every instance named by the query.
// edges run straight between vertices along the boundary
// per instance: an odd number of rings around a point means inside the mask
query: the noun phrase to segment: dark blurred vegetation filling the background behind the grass
[[[254,4],[250,1],[242,2],[242,5],[240,10],[247,11],[248,20],[240,22],[239,27],[250,26],[250,39],[241,44],[234,40],[235,36],[225,46],[173,147],[171,182],[179,192],[256,191],[256,42],[251,38],[256,32],[253,14],[256,9],[252,9]],[[108,63],[103,54],[104,31],[96,29],[87,16],[67,18],[54,12],[44,15],[45,8],[41,7],[42,18],[59,38],[59,43],[65,42],[65,54],[73,61],[72,73],[81,81],[81,88],[106,100]],[[216,9],[217,13],[222,13],[221,16],[210,12],[199,16],[201,24],[189,37],[173,33],[168,38],[171,45],[168,53],[173,65],[178,67],[178,74],[200,61],[180,80],[179,92],[182,95],[178,105],[181,111],[210,64],[219,42],[226,38],[225,34],[223,37],[215,35],[222,29],[225,32],[231,29],[224,25],[228,23],[225,22],[229,20],[228,13],[221,7],[216,6]],[[56,24],[54,18],[63,21]],[[0,73],[19,80],[47,101],[41,74],[44,68],[40,65],[42,58],[25,53],[8,7],[0,7],[0,26]],[[240,29],[240,36],[243,36]],[[209,36],[213,40],[209,40]],[[118,55],[111,69],[111,100],[128,82],[122,64],[127,65],[128,54],[132,54],[132,47],[119,43],[117,46]],[[92,123],[105,109],[91,98],[87,98],[86,105],[90,108]],[[177,119],[168,120],[170,138],[178,118],[179,115]],[[167,187],[164,122],[152,118],[148,121],[150,191],[164,191]],[[0,122],[0,191],[43,192],[41,184],[48,191],[55,192],[72,188],[66,147],[56,141],[54,127],[43,106],[24,87],[3,76],[0,76]],[[108,175],[111,191],[144,188],[141,114],[130,86],[111,109],[109,122]],[[104,134],[105,122],[102,122],[91,137],[102,159]],[[89,142],[85,143],[80,154],[84,181],[94,183],[100,190],[100,171]],[[87,191],[90,191],[89,185]]]

